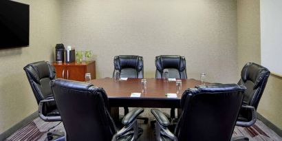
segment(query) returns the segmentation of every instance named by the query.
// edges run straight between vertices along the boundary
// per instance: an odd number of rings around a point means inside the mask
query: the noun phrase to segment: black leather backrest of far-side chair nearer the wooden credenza
[[[120,77],[143,78],[143,57],[120,55],[113,59],[114,70],[120,71]]]

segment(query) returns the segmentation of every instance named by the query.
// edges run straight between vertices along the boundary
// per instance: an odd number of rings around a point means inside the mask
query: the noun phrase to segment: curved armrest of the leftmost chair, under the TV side
[[[46,98],[44,100],[41,100],[39,102],[39,117],[44,120],[44,121],[61,121],[61,116],[44,116],[43,115],[43,103],[45,102],[50,102],[50,101],[54,101],[54,98]]]

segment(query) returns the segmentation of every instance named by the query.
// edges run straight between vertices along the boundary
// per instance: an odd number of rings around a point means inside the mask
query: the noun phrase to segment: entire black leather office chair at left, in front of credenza
[[[32,87],[36,102],[39,105],[39,117],[46,122],[61,121],[50,87],[50,81],[56,78],[54,67],[47,61],[30,63],[23,67]],[[62,133],[48,133],[48,140]]]

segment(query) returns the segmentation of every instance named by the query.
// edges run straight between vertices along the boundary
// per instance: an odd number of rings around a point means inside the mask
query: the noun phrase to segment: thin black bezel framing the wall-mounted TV
[[[28,45],[14,45],[14,46],[9,46],[9,47],[0,47],[0,50],[9,50],[9,49],[22,48],[22,47],[30,47],[30,5],[26,3],[21,3],[18,1],[11,1],[11,0],[7,0],[7,1],[28,6]]]

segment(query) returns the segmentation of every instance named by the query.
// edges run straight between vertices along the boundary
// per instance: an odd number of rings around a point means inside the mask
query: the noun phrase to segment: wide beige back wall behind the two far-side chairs
[[[113,56],[144,57],[155,77],[155,56],[186,56],[188,78],[237,83],[235,0],[63,0],[62,41],[93,50],[98,78],[112,76]]]

